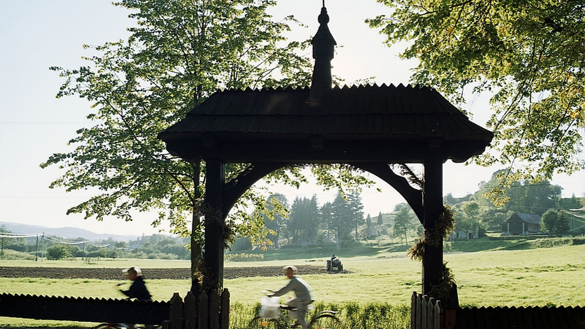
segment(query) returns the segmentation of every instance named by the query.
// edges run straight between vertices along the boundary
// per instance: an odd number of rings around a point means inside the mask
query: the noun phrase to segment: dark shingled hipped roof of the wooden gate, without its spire
[[[431,150],[466,161],[493,137],[428,86],[336,86],[316,107],[308,97],[308,87],[216,92],[159,137],[186,158],[305,163],[421,162]]]

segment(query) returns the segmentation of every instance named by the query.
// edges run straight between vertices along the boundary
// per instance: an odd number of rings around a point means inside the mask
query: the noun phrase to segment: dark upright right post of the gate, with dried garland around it
[[[435,227],[435,220],[443,212],[443,161],[440,158],[425,160],[425,189],[423,212],[425,236]],[[422,294],[428,295],[431,286],[443,275],[443,237],[438,245],[425,245],[422,255]]]

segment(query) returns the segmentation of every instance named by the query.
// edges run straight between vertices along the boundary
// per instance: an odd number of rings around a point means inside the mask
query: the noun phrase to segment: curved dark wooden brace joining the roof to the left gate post
[[[229,210],[236,204],[236,201],[242,196],[247,189],[264,176],[270,174],[278,168],[290,164],[283,163],[254,163],[245,171],[240,173],[236,178],[229,181],[223,190],[223,209],[222,215],[225,220],[228,217]]]

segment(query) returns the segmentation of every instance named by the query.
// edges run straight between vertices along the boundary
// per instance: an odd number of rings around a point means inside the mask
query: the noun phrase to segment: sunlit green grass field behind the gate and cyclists
[[[585,244],[552,243],[548,248],[518,250],[518,244],[499,244],[488,251],[446,252],[444,259],[453,270],[462,306],[584,306]],[[491,244],[491,242],[490,242]],[[533,243],[539,245],[539,243]],[[542,243],[540,243],[542,244]],[[552,247],[552,245],[558,245]],[[452,246],[458,248],[456,245]],[[477,247],[477,246],[476,246]],[[370,248],[371,249],[371,248]],[[267,265],[325,265],[329,253],[308,252],[302,258],[291,252],[287,260],[261,262],[227,262],[225,266]],[[405,257],[404,251],[364,252],[367,255],[345,257],[344,268],[352,273],[300,275],[314,289],[315,299],[325,304],[360,305],[378,303],[395,307],[409,304],[413,291],[421,291],[421,264]],[[269,255],[267,259],[272,259]],[[188,267],[187,261],[152,261],[116,259],[97,265],[67,261],[1,261],[0,266],[141,266],[147,276],[148,268]],[[84,297],[122,297],[113,280],[0,278],[0,291],[31,295],[58,295]],[[280,288],[287,282],[284,276],[274,278],[238,278],[224,280],[230,290],[231,302],[238,307],[251,307],[263,296],[261,290]],[[154,299],[168,300],[174,292],[184,296],[190,287],[187,280],[147,280]],[[19,320],[0,318],[3,326],[19,326]],[[26,320],[29,321],[29,320]],[[34,323],[25,321],[25,325]],[[20,324],[19,324],[20,323]],[[63,323],[57,323],[63,325]],[[43,325],[47,325],[43,323]],[[76,325],[76,324],[74,324]]]

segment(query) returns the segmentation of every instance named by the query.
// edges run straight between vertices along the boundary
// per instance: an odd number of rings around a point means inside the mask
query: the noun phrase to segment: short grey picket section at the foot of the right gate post
[[[443,329],[443,307],[441,301],[417,292],[412,293],[411,329]]]

